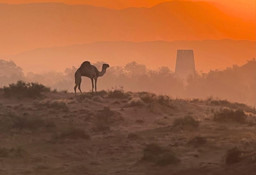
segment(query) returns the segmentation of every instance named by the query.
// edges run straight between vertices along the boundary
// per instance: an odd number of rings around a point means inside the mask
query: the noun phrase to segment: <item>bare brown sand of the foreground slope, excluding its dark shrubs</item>
[[[106,96],[93,100],[79,99],[80,94],[75,98],[73,93],[44,95],[50,101],[65,102],[67,108],[35,106],[35,99],[1,97],[0,174],[256,174],[255,125],[213,121],[211,110],[219,110],[218,105],[178,99],[171,105],[151,102],[127,107],[128,100]],[[104,106],[112,113],[108,128],[98,131]],[[185,115],[198,120],[199,127],[173,128],[173,120]],[[17,117],[40,118],[50,124],[17,128]],[[83,130],[90,139],[58,138],[69,128]],[[130,133],[134,137],[128,137]],[[188,144],[196,136],[204,137],[207,143]],[[172,150],[180,163],[157,166],[141,161],[143,149],[150,143]],[[243,159],[226,165],[226,151],[235,146],[243,150]]]

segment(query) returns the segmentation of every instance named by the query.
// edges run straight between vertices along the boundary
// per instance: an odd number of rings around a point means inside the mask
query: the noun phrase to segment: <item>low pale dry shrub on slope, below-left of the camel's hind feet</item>
[[[34,105],[36,107],[68,109],[67,103],[63,100],[50,100],[50,99],[36,100],[34,101]]]

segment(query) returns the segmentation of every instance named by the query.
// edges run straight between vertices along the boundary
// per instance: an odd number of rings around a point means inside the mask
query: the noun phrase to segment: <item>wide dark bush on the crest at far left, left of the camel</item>
[[[4,86],[4,95],[7,97],[29,97],[36,98],[40,97],[41,92],[48,92],[50,88],[45,87],[43,84],[39,83],[26,83],[22,80],[17,81],[17,83],[9,84],[9,87]]]

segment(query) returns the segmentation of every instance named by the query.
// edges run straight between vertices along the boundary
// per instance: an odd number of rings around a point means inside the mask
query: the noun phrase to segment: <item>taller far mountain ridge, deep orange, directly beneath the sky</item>
[[[0,54],[97,41],[255,40],[255,23],[212,3],[122,10],[63,3],[0,4]]]

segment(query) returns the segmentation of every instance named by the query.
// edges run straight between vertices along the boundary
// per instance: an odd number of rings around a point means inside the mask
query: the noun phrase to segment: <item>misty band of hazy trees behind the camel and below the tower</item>
[[[101,69],[102,63],[92,63]],[[37,82],[52,87],[56,91],[73,91],[74,74],[77,68],[66,68],[64,72],[48,72],[44,74],[34,74],[29,72],[24,75],[22,69],[12,61],[1,60],[0,66],[5,70],[2,71],[0,80],[2,87],[8,87],[8,84],[16,83],[17,80],[26,82]],[[143,64],[136,62],[127,63],[125,66],[110,67],[108,73],[99,81],[102,90],[108,90],[109,97],[129,98],[126,91],[146,91],[141,92],[140,98],[145,103],[152,102],[159,94],[167,94],[179,98],[205,98],[207,96],[219,97],[239,103],[253,105],[255,101],[255,80],[256,77],[252,72],[256,69],[256,60],[247,61],[243,66],[233,66],[223,70],[211,70],[208,73],[198,71],[196,76],[181,79],[177,77],[168,67],[161,67],[156,70],[146,68]],[[10,76],[12,75],[12,76]],[[82,91],[91,89],[90,80],[86,79],[82,83]],[[168,80],[168,81],[166,81]],[[232,80],[232,81],[231,81]],[[216,83],[218,82],[218,83]],[[116,87],[115,87],[116,86]],[[114,87],[114,88],[112,88]],[[105,93],[106,91],[102,91]],[[243,94],[243,95],[238,95]],[[231,108],[231,104],[225,103],[225,100],[213,100],[212,105],[221,105]],[[234,104],[233,108],[235,107]],[[242,107],[242,106],[241,106]]]

